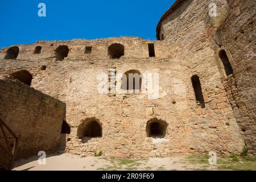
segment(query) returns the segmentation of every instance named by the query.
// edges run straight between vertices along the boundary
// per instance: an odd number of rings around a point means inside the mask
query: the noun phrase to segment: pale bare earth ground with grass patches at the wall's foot
[[[253,170],[256,161],[243,158],[234,161],[221,157],[217,165],[209,165],[206,155],[174,155],[169,158],[116,159],[104,157],[80,158],[78,155],[48,155],[46,165],[38,164],[39,156],[20,159],[15,163],[14,171],[215,171],[215,170]]]

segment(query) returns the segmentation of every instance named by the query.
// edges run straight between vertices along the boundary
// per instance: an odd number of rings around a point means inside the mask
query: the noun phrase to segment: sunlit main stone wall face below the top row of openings
[[[210,61],[215,59],[214,53],[209,48],[197,51],[189,57],[191,63],[187,64],[188,58],[175,57],[176,52],[169,52],[163,45],[155,42],[156,55],[159,53],[157,47],[161,47],[160,51],[168,52],[168,58],[125,55],[115,60],[108,57],[67,57],[64,61],[51,58],[1,60],[0,71],[7,77],[18,69],[26,69],[33,75],[33,88],[67,104],[66,121],[71,126],[67,151],[73,154],[94,155],[94,152],[102,151],[106,156],[138,157],[211,150],[240,152],[244,145],[241,131],[220,75],[216,73],[217,64]],[[136,45],[131,45],[130,49],[140,50]],[[207,67],[202,63],[208,63]],[[40,70],[42,65],[47,66],[46,70]],[[160,98],[152,99],[148,94],[98,93],[98,75],[109,74],[111,68],[116,69],[117,75],[131,69],[159,73]],[[200,77],[205,109],[196,104],[191,83],[193,75]],[[120,77],[117,82],[120,86]],[[77,129],[88,118],[96,118],[101,123],[102,138],[82,143],[77,137]],[[167,122],[166,137],[147,137],[146,124],[152,118]]]

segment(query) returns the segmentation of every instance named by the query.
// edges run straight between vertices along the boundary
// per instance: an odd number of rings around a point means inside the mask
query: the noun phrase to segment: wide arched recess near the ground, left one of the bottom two
[[[102,137],[101,124],[95,118],[86,119],[77,129],[79,138],[99,138]]]

